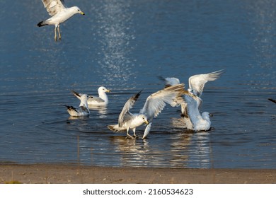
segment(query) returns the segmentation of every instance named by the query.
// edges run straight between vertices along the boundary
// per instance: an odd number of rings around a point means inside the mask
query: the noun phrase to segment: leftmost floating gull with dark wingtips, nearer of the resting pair
[[[79,107],[64,105],[65,107],[67,107],[67,112],[69,112],[69,115],[73,117],[90,115],[90,111],[88,109],[88,104],[87,104],[88,97],[89,96],[87,94],[81,95],[80,97],[81,103],[79,104]]]

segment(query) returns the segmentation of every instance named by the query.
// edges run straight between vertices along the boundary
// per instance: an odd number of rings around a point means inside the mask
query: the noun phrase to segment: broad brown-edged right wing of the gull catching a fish
[[[183,103],[183,98],[181,98],[183,93],[184,84],[170,86],[157,91],[146,98],[146,103],[144,103],[144,107],[140,110],[140,113],[146,115],[148,120],[152,120],[154,117],[159,115],[159,113],[166,106],[166,103],[173,107]]]

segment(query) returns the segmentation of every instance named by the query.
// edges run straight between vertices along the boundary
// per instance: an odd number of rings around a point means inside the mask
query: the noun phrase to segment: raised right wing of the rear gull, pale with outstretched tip
[[[209,74],[197,74],[194,76],[190,76],[189,78],[189,88],[192,89],[192,92],[200,97],[202,95],[203,88],[205,83],[208,81],[214,81],[220,76],[222,76],[224,69],[219,71],[214,71]]]

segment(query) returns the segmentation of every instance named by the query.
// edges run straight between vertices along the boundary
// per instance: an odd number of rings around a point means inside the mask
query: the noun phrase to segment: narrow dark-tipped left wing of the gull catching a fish
[[[122,107],[122,112],[118,118],[119,127],[121,127],[124,122],[131,119],[132,115],[130,114],[129,110],[132,109],[141,92],[142,91],[139,91],[139,93],[134,94],[130,99],[127,100],[124,107]]]

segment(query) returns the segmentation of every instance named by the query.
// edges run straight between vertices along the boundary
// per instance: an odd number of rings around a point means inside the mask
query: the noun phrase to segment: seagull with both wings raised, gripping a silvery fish
[[[136,128],[142,124],[147,124],[147,127],[144,131],[144,139],[149,134],[151,129],[151,120],[159,115],[159,113],[166,106],[166,103],[173,107],[180,104],[181,101],[183,101],[183,98],[181,97],[183,91],[184,84],[179,84],[176,86],[164,88],[160,91],[157,91],[156,93],[152,93],[148,98],[146,98],[144,107],[139,111],[139,113],[132,114],[130,109],[132,109],[134,103],[138,100],[142,91],[134,94],[130,99],[127,100],[124,107],[122,108],[122,112],[118,118],[118,124],[108,125],[108,129],[115,132],[126,131],[127,137],[134,139],[137,137],[135,133]],[[130,129],[133,131],[133,136],[129,134]]]

